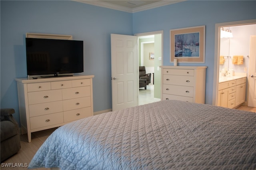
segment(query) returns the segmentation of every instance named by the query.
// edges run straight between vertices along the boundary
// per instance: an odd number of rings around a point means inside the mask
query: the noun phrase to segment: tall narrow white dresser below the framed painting
[[[161,100],[205,103],[206,66],[160,66]]]

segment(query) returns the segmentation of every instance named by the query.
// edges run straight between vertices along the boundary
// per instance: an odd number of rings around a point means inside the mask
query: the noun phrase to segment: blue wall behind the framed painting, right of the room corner
[[[133,15],[133,33],[164,30],[163,65],[170,63],[170,30],[206,26],[205,63],[179,65],[206,65],[206,104],[212,104],[214,77],[215,24],[256,19],[256,1],[191,0],[154,8]]]

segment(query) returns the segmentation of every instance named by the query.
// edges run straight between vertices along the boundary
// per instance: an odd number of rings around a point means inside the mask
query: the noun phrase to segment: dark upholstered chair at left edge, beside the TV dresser
[[[20,150],[18,123],[13,118],[14,109],[1,109],[1,162]]]

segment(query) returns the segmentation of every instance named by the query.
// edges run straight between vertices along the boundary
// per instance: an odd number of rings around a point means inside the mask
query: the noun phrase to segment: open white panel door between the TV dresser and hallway
[[[137,37],[111,34],[112,111],[138,105]]]

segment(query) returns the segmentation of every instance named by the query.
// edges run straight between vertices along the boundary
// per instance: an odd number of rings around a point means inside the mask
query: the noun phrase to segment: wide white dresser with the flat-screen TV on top
[[[93,115],[94,75],[17,78],[22,134],[62,126]]]

